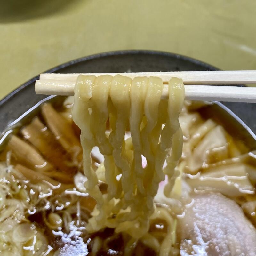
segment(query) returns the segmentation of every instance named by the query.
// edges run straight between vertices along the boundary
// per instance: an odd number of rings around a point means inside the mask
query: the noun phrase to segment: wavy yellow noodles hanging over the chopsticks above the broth
[[[88,179],[85,187],[97,201],[88,232],[109,227],[138,239],[148,231],[153,198],[164,174],[169,180],[166,193],[172,190],[178,176],[174,168],[182,152],[178,117],[184,86],[181,79],[172,78],[168,100],[161,100],[163,88],[163,81],[152,76],[133,80],[121,75],[78,77],[72,116],[81,129]],[[108,119],[110,133],[106,130]],[[125,140],[127,129],[131,139]],[[107,194],[100,191],[97,171],[92,169],[94,147],[104,156],[104,165],[99,168],[105,169]],[[147,160],[144,168],[142,156]]]

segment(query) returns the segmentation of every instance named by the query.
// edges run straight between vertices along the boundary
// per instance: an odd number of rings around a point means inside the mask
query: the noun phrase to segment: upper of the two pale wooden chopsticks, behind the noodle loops
[[[82,73],[81,73],[82,74]],[[136,76],[158,76],[164,83],[171,77],[181,78],[184,84],[256,84],[256,70],[231,70],[231,71],[179,71],[179,72],[140,72],[140,73],[94,73],[82,75],[112,75],[117,74],[134,78]],[[80,74],[55,74],[45,73],[40,75],[40,80],[60,80],[76,82]]]

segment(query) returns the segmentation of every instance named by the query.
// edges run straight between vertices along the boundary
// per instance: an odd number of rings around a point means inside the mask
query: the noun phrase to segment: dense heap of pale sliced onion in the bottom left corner
[[[26,218],[35,197],[29,198],[28,185],[15,180],[13,174],[18,171],[7,164],[0,163],[0,253],[42,255],[47,251],[47,238]]]

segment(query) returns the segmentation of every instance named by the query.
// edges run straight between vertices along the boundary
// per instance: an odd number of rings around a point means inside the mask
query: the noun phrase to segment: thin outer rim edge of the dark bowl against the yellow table
[[[209,70],[219,70],[218,68],[216,68],[216,67],[214,67],[210,64],[207,64],[207,63],[205,63],[201,60],[196,60],[196,59],[193,59],[193,58],[190,58],[190,57],[187,57],[187,56],[184,56],[184,55],[180,55],[180,54],[177,54],[177,53],[164,52],[164,51],[155,51],[155,50],[120,50],[120,51],[102,52],[102,53],[98,53],[98,54],[88,55],[88,56],[78,58],[78,59],[75,59],[75,60],[70,60],[68,62],[65,62],[64,64],[61,64],[61,65],[56,66],[54,68],[51,68],[51,69],[49,69],[49,70],[47,70],[43,73],[53,73],[53,72],[59,70],[60,68],[65,68],[65,67],[68,67],[70,65],[73,65],[73,64],[85,61],[85,60],[97,59],[97,58],[106,57],[106,56],[125,55],[125,54],[151,54],[151,55],[169,56],[169,57],[174,57],[174,58],[177,58],[177,59],[187,60],[187,61],[190,61],[190,62],[195,63],[195,64],[203,65],[205,68],[208,68]],[[40,76],[40,74],[37,75],[37,76],[34,76],[30,80],[28,80],[24,84],[21,84],[19,87],[14,89],[12,92],[7,94],[2,100],[0,100],[0,108],[1,108],[2,105],[4,105],[4,103],[7,100],[10,100],[15,94],[22,91],[29,84],[38,80],[39,76]]]

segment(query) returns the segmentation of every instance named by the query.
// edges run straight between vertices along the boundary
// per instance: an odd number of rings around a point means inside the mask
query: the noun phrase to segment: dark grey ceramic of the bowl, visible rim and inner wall
[[[114,73],[114,72],[150,72],[150,71],[198,71],[217,70],[204,62],[178,54],[156,51],[118,51],[107,52],[73,60],[48,73]],[[0,132],[2,140],[13,126],[33,111],[42,101],[56,97],[36,95],[34,86],[39,76],[32,78],[0,101]],[[33,110],[35,109],[35,110]],[[254,113],[256,104],[215,102],[207,113],[226,124],[229,132],[239,129],[241,137],[251,149],[256,149],[256,122]],[[24,114],[25,113],[25,114]],[[234,128],[236,127],[236,129]],[[249,128],[250,127],[250,128]],[[8,132],[9,131],[9,132]],[[240,132],[238,132],[240,134]],[[0,140],[1,141],[1,140]]]

